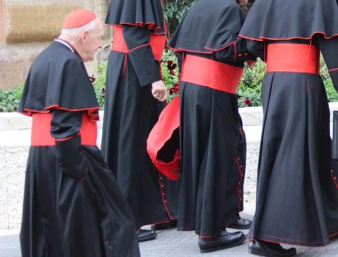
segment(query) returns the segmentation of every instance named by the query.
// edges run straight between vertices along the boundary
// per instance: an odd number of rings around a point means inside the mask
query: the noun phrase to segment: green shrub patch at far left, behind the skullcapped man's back
[[[19,87],[0,90],[0,112],[17,111],[22,95],[23,83]]]

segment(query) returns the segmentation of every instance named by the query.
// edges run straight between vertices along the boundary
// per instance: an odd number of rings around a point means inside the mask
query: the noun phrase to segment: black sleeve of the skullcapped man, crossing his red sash
[[[51,135],[56,139],[56,155],[63,173],[78,180],[87,174],[85,155],[81,147],[83,111],[52,109]]]

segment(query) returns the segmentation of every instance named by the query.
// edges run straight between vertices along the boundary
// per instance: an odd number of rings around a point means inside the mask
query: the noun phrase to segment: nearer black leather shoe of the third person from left
[[[246,237],[240,231],[235,233],[227,233],[226,231],[223,231],[219,237],[199,237],[198,246],[200,247],[200,252],[205,254],[239,246],[245,241],[245,239]]]

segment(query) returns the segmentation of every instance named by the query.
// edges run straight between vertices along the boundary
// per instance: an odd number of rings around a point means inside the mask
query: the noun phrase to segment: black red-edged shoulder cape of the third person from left
[[[233,0],[199,0],[172,35],[175,51],[212,53],[234,43],[245,16]]]

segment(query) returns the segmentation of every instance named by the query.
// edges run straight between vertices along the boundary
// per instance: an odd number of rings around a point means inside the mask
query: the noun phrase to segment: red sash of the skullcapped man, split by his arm
[[[31,146],[55,146],[55,138],[51,136],[52,116],[52,113],[33,113]],[[83,113],[81,145],[96,146],[97,133],[97,122]]]

